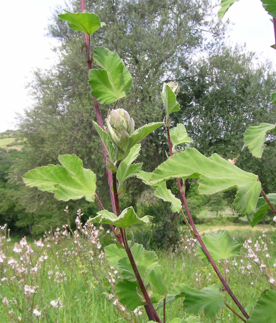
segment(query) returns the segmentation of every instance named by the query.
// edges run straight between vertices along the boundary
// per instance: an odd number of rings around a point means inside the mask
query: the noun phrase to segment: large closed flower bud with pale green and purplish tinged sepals
[[[129,136],[134,132],[134,120],[124,109],[108,111],[105,119],[110,139],[120,150],[124,150],[129,141]]]

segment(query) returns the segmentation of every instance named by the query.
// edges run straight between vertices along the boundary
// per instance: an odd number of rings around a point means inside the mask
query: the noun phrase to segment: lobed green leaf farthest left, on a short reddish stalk
[[[93,202],[96,190],[96,175],[83,168],[82,160],[76,155],[60,155],[60,165],[41,166],[23,176],[26,185],[41,191],[55,193],[61,201],[79,200],[84,197]]]

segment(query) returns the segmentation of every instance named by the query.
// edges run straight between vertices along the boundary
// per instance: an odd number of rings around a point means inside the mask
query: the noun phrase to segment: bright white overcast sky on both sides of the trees
[[[32,70],[49,68],[56,62],[51,47],[57,42],[45,34],[51,9],[63,4],[63,0],[14,0],[12,14],[2,15],[6,28],[1,30],[0,132],[16,129],[16,113],[23,114],[31,107],[25,87],[32,79]],[[227,18],[235,23],[228,33],[229,42],[246,42],[248,50],[259,54],[260,61],[270,59],[276,68],[276,51],[270,48],[275,43],[273,24],[261,1],[240,0],[229,8],[223,19]]]

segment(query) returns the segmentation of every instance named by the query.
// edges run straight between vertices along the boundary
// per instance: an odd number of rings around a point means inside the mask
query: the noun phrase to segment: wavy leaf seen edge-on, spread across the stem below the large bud
[[[105,224],[113,224],[120,228],[127,228],[132,224],[145,224],[149,223],[149,221],[153,218],[153,216],[145,215],[141,219],[138,218],[132,206],[126,208],[119,216],[116,214],[109,212],[107,210],[102,210],[97,212],[97,216],[92,219],[89,219],[90,223],[105,223]]]

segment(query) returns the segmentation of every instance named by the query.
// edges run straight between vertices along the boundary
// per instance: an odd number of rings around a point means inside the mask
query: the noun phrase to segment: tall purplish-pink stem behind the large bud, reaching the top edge
[[[85,9],[84,0],[81,0],[81,10],[82,10],[82,12],[84,11],[84,9]],[[87,68],[88,68],[88,72],[89,72],[89,70],[92,69],[92,63],[91,63],[91,59],[90,59],[90,36],[88,36],[85,33],[83,33],[83,34],[84,34],[84,44],[85,44],[85,52],[86,52],[86,62],[87,62]],[[102,119],[101,111],[100,111],[100,108],[99,108],[99,102],[95,98],[93,98],[93,101],[94,101],[94,106],[95,106],[95,112],[96,112],[98,125],[102,129],[104,129],[103,119]],[[104,159],[105,159],[105,170],[106,170],[106,175],[107,175],[107,180],[108,180],[108,186],[109,186],[109,193],[110,193],[112,208],[113,208],[113,212],[116,214],[114,194],[113,194],[113,192],[111,190],[112,176],[111,176],[111,172],[106,167],[107,150],[106,150],[106,147],[105,147],[105,144],[104,144],[103,141],[102,141],[102,147],[103,147],[103,153],[104,153]]]

